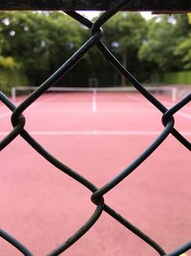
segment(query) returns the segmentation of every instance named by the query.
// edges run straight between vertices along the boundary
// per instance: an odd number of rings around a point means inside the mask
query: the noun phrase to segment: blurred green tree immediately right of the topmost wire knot
[[[147,33],[145,19],[139,13],[119,12],[104,26],[105,41],[125,67],[138,73],[138,49]],[[122,78],[121,85],[125,85]]]

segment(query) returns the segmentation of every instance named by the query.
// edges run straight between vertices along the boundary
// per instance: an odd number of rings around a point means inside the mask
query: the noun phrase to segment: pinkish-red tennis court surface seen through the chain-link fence
[[[167,98],[160,100],[172,105]],[[163,129],[159,110],[143,97],[119,93],[50,94],[30,106],[25,116],[26,129],[41,145],[97,187],[138,157]],[[1,105],[1,139],[11,130],[10,117]],[[190,140],[191,105],[175,118],[176,128]],[[170,252],[191,237],[190,166],[190,151],[169,135],[105,200]],[[95,210],[86,188],[56,170],[19,136],[1,152],[0,180],[0,226],[35,256],[67,240]],[[0,255],[21,254],[1,240]],[[63,255],[159,254],[103,213]]]

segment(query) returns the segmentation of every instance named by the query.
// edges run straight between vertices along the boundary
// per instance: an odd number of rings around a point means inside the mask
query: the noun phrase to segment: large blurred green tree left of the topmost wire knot
[[[79,47],[80,32],[62,12],[1,12],[4,56],[21,63],[37,85]]]

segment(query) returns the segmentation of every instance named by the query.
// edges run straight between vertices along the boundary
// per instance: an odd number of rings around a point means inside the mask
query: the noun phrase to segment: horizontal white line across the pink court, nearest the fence
[[[36,136],[80,136],[80,135],[118,135],[118,136],[157,136],[161,131],[155,130],[32,130],[28,131]],[[1,136],[8,131],[0,131]],[[182,135],[191,136],[191,131],[182,131]]]

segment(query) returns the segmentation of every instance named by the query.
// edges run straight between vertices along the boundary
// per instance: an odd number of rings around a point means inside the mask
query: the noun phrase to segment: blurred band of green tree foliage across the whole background
[[[140,81],[153,73],[191,69],[191,24],[186,14],[147,21],[139,13],[119,12],[103,30],[107,47]],[[38,85],[90,36],[91,31],[63,12],[0,12],[1,73],[17,72],[27,77],[25,82]],[[97,77],[99,85],[121,84],[96,47],[59,84],[84,86],[90,77]]]

